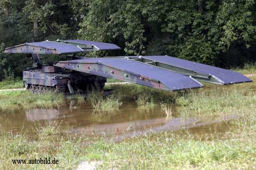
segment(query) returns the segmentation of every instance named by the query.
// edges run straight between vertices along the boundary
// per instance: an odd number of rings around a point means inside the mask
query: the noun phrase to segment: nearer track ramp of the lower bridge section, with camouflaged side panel
[[[203,87],[191,77],[125,58],[59,61],[55,66],[169,91]]]

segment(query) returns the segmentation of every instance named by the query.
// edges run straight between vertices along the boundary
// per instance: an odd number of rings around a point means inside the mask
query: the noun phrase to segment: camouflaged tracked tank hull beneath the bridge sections
[[[63,70],[56,66],[32,67],[23,71],[24,86],[36,94],[48,91],[81,93],[102,90],[105,82],[104,77]]]

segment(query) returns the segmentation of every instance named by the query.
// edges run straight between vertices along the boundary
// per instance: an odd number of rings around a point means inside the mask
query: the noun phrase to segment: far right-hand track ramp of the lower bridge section
[[[170,56],[141,56],[134,60],[166,68],[207,83],[227,85],[251,82],[249,78],[239,72]]]

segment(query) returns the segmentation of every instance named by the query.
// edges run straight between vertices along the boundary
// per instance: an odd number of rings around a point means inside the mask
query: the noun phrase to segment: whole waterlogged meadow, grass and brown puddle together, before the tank
[[[255,169],[256,70],[243,71],[252,83],[174,93],[108,85],[113,95],[86,101],[0,92],[0,168]],[[60,163],[11,162],[46,156]]]

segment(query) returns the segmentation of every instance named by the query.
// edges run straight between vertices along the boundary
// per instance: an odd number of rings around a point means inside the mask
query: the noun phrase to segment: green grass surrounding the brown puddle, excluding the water
[[[238,70],[254,74],[255,67]],[[116,142],[116,136],[88,138],[59,129],[59,125],[46,124],[34,127],[35,135],[21,131],[0,134],[0,169],[73,169],[83,161],[99,161],[98,169],[255,169],[256,168],[256,75],[253,82],[230,86],[205,84],[205,88],[183,92],[167,92],[139,85],[111,85],[114,94],[108,98],[96,97],[119,106],[124,100],[133,100],[137,106],[160,106],[168,110],[169,104],[176,105],[183,119],[195,118],[212,121],[230,115],[239,119],[224,120],[223,131],[190,133],[188,129],[179,132],[159,132],[126,138]],[[25,97],[23,94],[28,95]],[[1,92],[0,105],[12,108],[31,106],[63,100],[60,96],[29,95],[25,91]],[[93,94],[92,94],[93,95]],[[11,103],[5,103],[11,100]],[[23,99],[24,98],[24,99]],[[7,100],[8,99],[8,100]],[[118,103],[115,101],[118,100]],[[91,96],[88,102],[95,101]],[[157,105],[156,105],[157,104]],[[104,108],[100,105],[99,108]],[[217,126],[217,125],[216,125]],[[13,165],[12,159],[35,159],[54,157],[57,165],[20,164]]]

